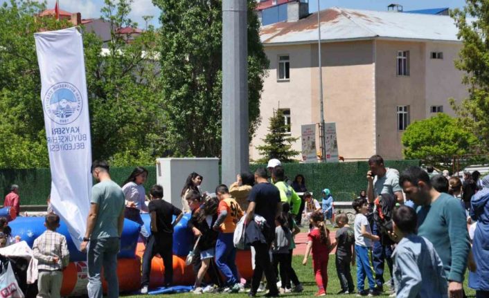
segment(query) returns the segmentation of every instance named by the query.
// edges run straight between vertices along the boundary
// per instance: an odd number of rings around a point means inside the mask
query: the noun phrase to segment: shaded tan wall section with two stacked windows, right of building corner
[[[375,46],[377,94],[377,153],[384,159],[402,158],[397,106],[408,105],[410,120],[425,118],[425,44],[380,41]],[[409,50],[409,76],[397,75],[398,50]]]

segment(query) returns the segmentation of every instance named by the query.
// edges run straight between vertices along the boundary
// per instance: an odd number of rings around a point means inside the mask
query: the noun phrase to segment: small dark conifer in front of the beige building
[[[281,162],[293,162],[293,157],[300,152],[292,150],[292,142],[299,138],[287,136],[290,126],[285,124],[281,110],[274,111],[274,115],[270,117],[269,121],[267,136],[262,139],[265,145],[256,147],[263,156],[258,162],[266,163],[270,158],[277,158]]]

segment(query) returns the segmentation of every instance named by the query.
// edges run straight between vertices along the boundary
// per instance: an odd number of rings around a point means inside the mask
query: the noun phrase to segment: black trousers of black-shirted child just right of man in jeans
[[[143,254],[143,274],[141,286],[150,285],[151,260],[156,254],[163,259],[165,266],[165,286],[170,286],[173,282],[173,235],[172,234],[151,234],[146,243]]]

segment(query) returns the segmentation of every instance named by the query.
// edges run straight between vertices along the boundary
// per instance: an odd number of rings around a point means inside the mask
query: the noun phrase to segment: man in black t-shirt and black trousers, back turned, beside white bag
[[[254,220],[254,214],[263,216],[267,221],[267,227],[263,230],[263,234],[267,243],[260,243],[256,241],[252,243],[255,254],[255,269],[253,271],[253,278],[251,279],[251,290],[249,292],[250,297],[256,295],[258,286],[260,286],[260,280],[263,272],[267,278],[267,284],[269,292],[267,297],[277,297],[278,289],[276,285],[277,277],[275,275],[272,263],[270,262],[269,249],[275,236],[275,217],[281,212],[281,198],[280,192],[275,185],[267,181],[267,170],[264,168],[258,168],[255,171],[255,181],[253,189],[248,196],[248,210],[246,222],[250,223]]]

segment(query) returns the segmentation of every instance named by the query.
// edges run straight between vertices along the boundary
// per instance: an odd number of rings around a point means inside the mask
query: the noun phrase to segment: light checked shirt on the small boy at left
[[[33,252],[38,261],[38,270],[62,270],[63,267],[68,266],[68,245],[66,237],[60,233],[46,230],[35,239]],[[57,257],[57,262],[54,261],[55,257]]]

